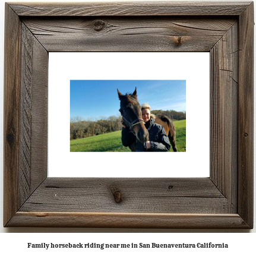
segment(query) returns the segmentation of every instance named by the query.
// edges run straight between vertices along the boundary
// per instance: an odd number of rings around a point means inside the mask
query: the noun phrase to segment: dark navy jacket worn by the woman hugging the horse
[[[122,144],[125,147],[131,146],[132,143],[136,143],[136,151],[169,151],[170,150],[170,141],[166,135],[165,129],[162,125],[155,124],[154,119],[151,118],[150,121],[145,125],[150,141],[151,147],[147,149],[146,143],[141,143],[137,140],[134,134],[129,131],[129,128],[122,128]]]

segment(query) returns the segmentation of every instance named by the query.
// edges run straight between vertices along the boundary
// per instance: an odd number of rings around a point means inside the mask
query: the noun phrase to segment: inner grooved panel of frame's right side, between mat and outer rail
[[[211,49],[211,179],[237,211],[238,154],[238,23]],[[217,122],[216,122],[217,121]]]

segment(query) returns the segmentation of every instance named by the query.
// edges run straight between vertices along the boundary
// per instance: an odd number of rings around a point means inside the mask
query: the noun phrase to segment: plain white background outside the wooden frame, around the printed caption
[[[77,2],[80,2],[76,0]],[[10,0],[8,2],[16,2]],[[36,0],[26,2],[38,2]],[[45,2],[40,0],[40,2]],[[57,1],[51,1],[57,2]],[[65,2],[64,0],[61,2]],[[232,1],[230,1],[232,2]],[[1,134],[2,134],[2,118],[3,118],[3,71],[4,71],[4,1],[0,3],[0,102],[1,102],[1,112],[0,112],[0,122],[1,122]],[[3,146],[2,146],[2,136],[0,137],[0,157],[1,157],[1,175],[0,175],[0,186],[2,188],[2,159],[3,159]],[[255,179],[255,178],[254,178]],[[256,181],[254,182],[254,184]],[[0,219],[2,220],[2,189],[0,191]],[[254,197],[256,198],[256,196]],[[255,210],[254,210],[255,214]],[[255,218],[254,218],[255,219]],[[0,220],[0,222],[1,222]],[[189,253],[189,255],[254,255],[255,252],[255,232],[253,230],[170,230],[170,229],[91,229],[91,228],[77,228],[77,229],[68,229],[68,228],[4,228],[0,225],[0,252],[4,254],[22,254],[22,255],[56,255],[56,253],[63,253],[68,251],[52,251],[47,252],[45,249],[27,249],[27,242],[41,243],[41,242],[112,242],[112,243],[121,243],[121,242],[159,242],[159,243],[171,243],[171,242],[226,242],[229,243],[229,249],[202,249],[201,251],[192,251],[191,249],[185,249],[182,251],[169,251],[162,249],[157,251],[136,251],[137,254],[144,253],[161,253],[161,255],[171,255],[173,252],[182,252]],[[19,234],[22,232],[23,234]],[[30,233],[32,232],[32,233]],[[47,233],[46,233],[47,232]],[[49,232],[49,233],[48,233]],[[74,232],[72,234],[66,234],[65,232]],[[97,233],[95,232],[108,232]],[[121,232],[121,233],[115,233]],[[143,232],[143,233],[129,233],[129,232]],[[150,233],[144,233],[150,232]],[[160,232],[155,234],[154,232]],[[178,232],[178,233],[176,233]],[[191,233],[192,232],[192,233]],[[217,233],[215,233],[217,232]],[[233,233],[225,233],[233,232]],[[249,233],[251,232],[251,233]],[[46,233],[46,234],[45,234]],[[90,233],[90,234],[88,234]],[[253,233],[253,234],[252,234]],[[104,250],[103,250],[104,251]],[[53,254],[54,252],[54,254]],[[75,252],[75,255],[86,255],[87,251]],[[89,252],[89,251],[88,251]],[[90,251],[91,252],[91,251]],[[106,255],[131,255],[133,251],[93,251],[97,254]]]

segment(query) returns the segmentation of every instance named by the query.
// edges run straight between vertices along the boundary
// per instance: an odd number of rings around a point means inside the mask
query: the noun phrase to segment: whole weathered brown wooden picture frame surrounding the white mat
[[[4,226],[251,229],[253,9],[6,4]],[[48,178],[48,52],[70,51],[210,52],[210,178]]]

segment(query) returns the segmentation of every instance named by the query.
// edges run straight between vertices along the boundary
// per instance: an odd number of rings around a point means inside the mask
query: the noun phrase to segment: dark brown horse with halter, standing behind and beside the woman
[[[142,119],[141,106],[137,98],[137,87],[132,94],[123,95],[118,90],[118,97],[120,100],[120,109],[122,119],[126,127],[129,127],[130,131],[134,133],[141,143],[148,141],[148,131],[145,127],[145,123]],[[165,115],[156,115],[154,116],[155,123],[162,125],[163,129],[169,138],[170,145],[172,146],[173,152],[177,152],[176,147],[176,131],[175,126],[167,116]],[[131,151],[136,151],[135,143],[129,146]]]

